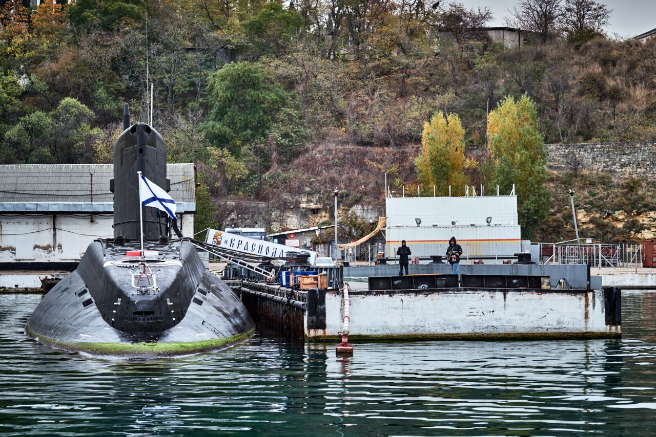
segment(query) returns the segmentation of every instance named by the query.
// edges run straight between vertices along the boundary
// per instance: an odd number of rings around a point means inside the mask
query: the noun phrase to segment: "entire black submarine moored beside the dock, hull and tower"
[[[131,125],[127,104],[123,129],[113,145],[110,181],[114,238],[89,245],[77,269],[43,297],[26,332],[56,349],[128,358],[217,351],[245,341],[255,322],[239,296],[205,269],[176,220],[142,206],[140,175],[170,189],[163,138],[148,124]]]

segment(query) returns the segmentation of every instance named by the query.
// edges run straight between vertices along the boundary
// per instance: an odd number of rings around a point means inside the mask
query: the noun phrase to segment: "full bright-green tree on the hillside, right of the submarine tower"
[[[212,73],[207,91],[211,110],[201,129],[207,140],[228,147],[237,158],[244,145],[268,137],[277,109],[285,101],[282,88],[253,62],[227,64]]]

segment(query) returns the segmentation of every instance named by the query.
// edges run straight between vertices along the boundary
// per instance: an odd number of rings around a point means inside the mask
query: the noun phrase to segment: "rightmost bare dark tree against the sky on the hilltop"
[[[576,43],[585,43],[602,35],[611,14],[605,5],[592,0],[565,0],[563,11],[567,39]]]

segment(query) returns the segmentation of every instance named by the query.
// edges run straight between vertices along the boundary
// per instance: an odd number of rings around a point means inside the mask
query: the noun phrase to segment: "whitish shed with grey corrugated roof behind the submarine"
[[[167,164],[185,237],[194,233],[194,176],[194,164]],[[0,267],[74,265],[93,240],[113,238],[112,178],[112,164],[0,165]]]

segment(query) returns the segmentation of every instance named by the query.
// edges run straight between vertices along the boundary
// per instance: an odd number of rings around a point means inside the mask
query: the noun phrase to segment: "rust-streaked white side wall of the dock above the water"
[[[367,337],[502,337],[619,334],[605,324],[604,291],[533,292],[493,289],[457,292],[353,293],[349,296],[350,335]],[[326,330],[342,330],[342,297],[326,293]]]

